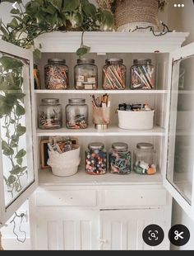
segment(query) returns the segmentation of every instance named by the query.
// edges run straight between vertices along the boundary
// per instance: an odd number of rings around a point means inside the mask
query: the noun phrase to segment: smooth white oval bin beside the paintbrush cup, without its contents
[[[128,130],[150,130],[154,126],[154,110],[122,111],[118,110],[118,127]]]

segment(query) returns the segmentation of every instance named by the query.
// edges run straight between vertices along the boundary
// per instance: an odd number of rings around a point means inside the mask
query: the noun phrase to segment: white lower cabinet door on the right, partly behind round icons
[[[164,241],[153,248],[142,239],[144,228],[151,224],[160,225],[166,234]],[[100,211],[100,228],[100,249],[169,249],[169,226],[166,225],[164,208]]]

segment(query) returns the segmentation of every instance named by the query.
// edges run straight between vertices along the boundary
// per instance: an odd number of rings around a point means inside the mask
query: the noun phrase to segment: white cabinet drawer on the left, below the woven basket
[[[96,206],[95,190],[38,191],[37,206]]]

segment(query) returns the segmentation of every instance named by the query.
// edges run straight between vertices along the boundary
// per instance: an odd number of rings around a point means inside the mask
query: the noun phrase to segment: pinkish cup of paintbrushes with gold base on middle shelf
[[[92,95],[92,121],[95,128],[105,130],[110,122],[110,101],[109,95],[105,93],[103,96],[95,97]]]

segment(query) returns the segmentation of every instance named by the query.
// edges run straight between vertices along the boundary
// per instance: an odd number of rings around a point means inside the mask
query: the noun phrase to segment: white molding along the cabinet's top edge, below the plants
[[[189,33],[169,32],[154,36],[152,32],[85,32],[84,45],[91,53],[169,53],[181,47]],[[42,52],[76,52],[81,45],[81,32],[52,32],[39,36],[35,46]]]

